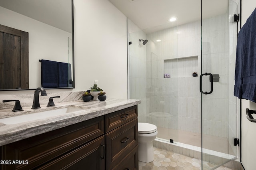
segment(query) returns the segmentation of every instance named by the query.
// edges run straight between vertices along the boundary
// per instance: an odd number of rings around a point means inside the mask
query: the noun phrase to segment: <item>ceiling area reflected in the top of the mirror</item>
[[[72,32],[71,0],[0,0],[0,6]]]

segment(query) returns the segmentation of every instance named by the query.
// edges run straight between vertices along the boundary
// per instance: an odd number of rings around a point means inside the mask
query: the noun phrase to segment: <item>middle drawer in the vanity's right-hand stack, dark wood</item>
[[[112,169],[138,145],[138,121],[134,119],[106,134],[106,167]]]

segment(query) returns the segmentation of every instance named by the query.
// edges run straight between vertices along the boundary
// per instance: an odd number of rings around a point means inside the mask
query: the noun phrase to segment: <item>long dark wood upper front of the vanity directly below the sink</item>
[[[28,164],[2,165],[2,170],[34,168],[103,134],[104,116],[101,116],[4,145],[2,160],[28,160]]]

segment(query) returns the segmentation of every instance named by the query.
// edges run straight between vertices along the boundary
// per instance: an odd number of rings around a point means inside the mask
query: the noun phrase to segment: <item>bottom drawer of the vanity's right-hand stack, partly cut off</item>
[[[113,170],[138,170],[138,145],[116,165]]]

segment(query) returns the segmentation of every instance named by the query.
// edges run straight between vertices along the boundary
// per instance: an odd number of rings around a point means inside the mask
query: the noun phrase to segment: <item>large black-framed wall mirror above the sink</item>
[[[46,89],[74,88],[73,0],[0,0],[0,16],[0,91],[36,89],[53,82],[57,85]],[[4,26],[25,32],[28,40],[4,33]],[[42,60],[58,66],[47,68],[45,74]]]

